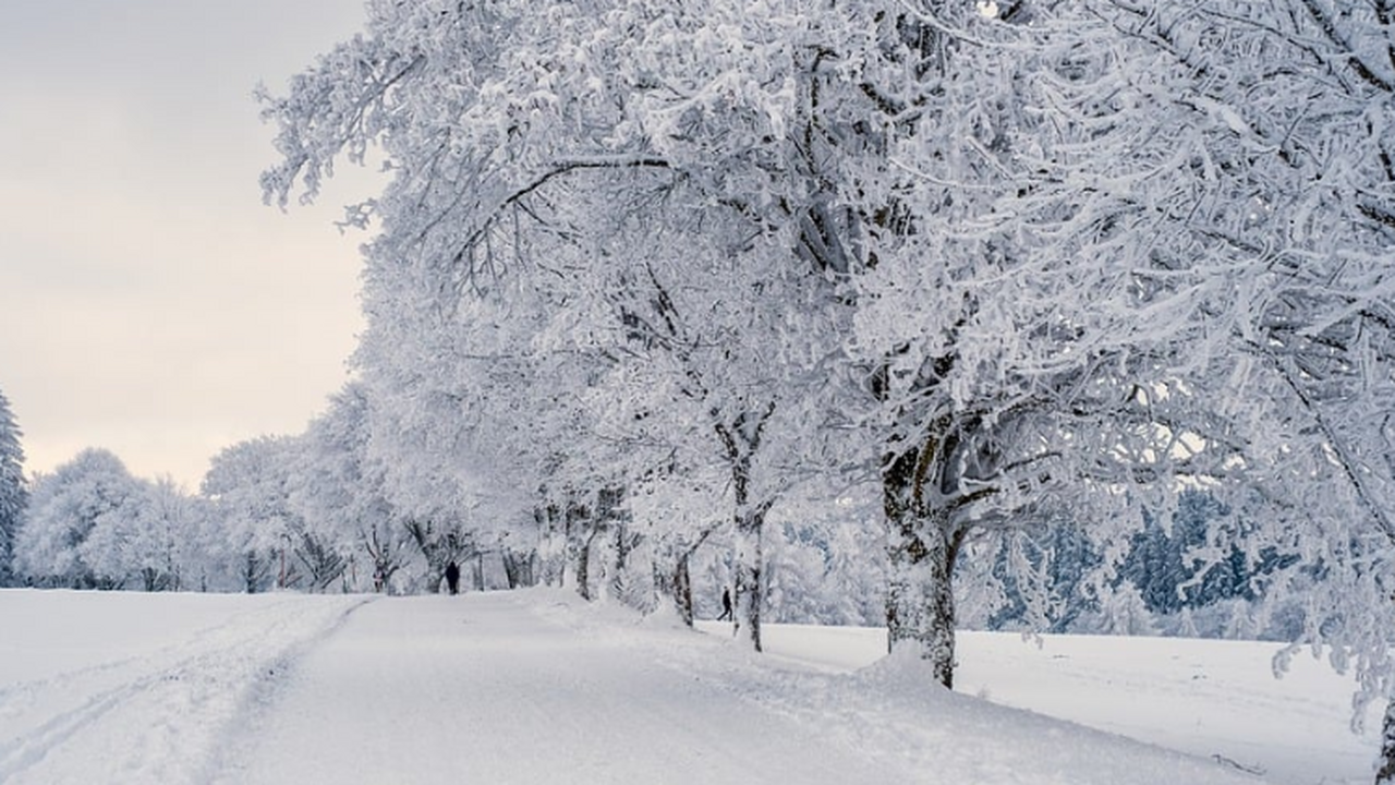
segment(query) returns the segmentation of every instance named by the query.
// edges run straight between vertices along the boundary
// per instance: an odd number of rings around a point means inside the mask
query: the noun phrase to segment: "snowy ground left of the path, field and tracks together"
[[[0,591],[0,784],[201,782],[364,598]]]

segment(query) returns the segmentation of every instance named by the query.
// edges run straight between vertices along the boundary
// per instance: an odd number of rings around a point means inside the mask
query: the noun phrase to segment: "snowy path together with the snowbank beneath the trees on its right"
[[[815,673],[573,594],[384,599],[311,651],[219,785],[1256,784],[925,684]]]

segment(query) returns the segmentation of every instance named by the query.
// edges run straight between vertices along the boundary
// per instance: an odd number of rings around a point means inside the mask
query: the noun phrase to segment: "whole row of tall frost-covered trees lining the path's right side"
[[[643,552],[684,612],[721,529],[759,650],[771,508],[877,483],[891,647],[950,684],[981,535],[1117,555],[1204,487],[1388,700],[1392,91],[1391,0],[372,0],[262,95],[264,189],[393,175],[347,222],[402,515]]]

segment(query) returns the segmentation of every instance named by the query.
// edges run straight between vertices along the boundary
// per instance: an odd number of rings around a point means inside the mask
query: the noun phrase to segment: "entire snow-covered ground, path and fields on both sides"
[[[756,656],[703,627],[543,589],[0,591],[0,782],[1371,778],[1377,717],[1352,735],[1350,682],[1276,680],[1272,645],[967,633],[950,694],[876,630],[771,626]]]

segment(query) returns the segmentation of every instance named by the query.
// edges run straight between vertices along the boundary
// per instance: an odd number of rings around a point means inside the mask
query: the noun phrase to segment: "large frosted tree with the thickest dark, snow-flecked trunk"
[[[1130,187],[1165,148],[1127,112],[1134,46],[1080,4],[999,11],[907,10],[866,54],[886,155],[862,197],[854,356],[882,444],[891,643],[946,684],[951,580],[981,532],[1066,508],[1108,529],[1223,461],[1183,439],[1212,427],[1183,380],[1222,268],[1154,281],[1130,244],[1155,219],[1127,210]]]

